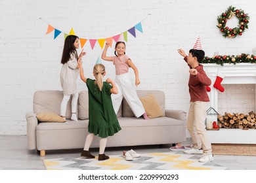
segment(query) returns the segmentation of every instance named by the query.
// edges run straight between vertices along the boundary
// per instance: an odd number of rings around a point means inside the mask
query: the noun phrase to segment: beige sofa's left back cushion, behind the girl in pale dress
[[[63,99],[63,92],[56,90],[39,90],[33,95],[33,112],[39,114],[42,112],[54,112],[60,115],[60,103]],[[66,109],[66,119],[71,118],[71,99],[68,101]]]

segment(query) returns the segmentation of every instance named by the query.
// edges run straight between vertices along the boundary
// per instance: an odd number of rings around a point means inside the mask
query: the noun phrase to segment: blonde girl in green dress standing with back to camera
[[[102,64],[96,64],[95,67],[93,67],[95,80],[92,80],[85,78],[83,75],[82,62],[79,61],[79,74],[81,80],[87,85],[89,95],[89,135],[86,137],[85,148],[83,148],[81,156],[85,158],[95,158],[95,156],[89,152],[89,148],[91,142],[93,142],[93,137],[98,135],[98,137],[100,137],[98,160],[109,159],[109,156],[104,154],[107,137],[121,130],[111,99],[112,93],[118,93],[116,84],[114,80],[110,78],[107,78],[106,82],[103,82],[106,71]]]

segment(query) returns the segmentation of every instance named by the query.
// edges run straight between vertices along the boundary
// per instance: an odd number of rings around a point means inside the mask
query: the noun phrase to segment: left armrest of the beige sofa
[[[37,127],[38,120],[32,111],[26,113],[26,120],[27,120],[28,149],[33,150],[37,148],[35,129]]]

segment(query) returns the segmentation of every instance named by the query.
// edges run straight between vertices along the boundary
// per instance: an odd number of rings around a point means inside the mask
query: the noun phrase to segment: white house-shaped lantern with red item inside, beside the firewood
[[[205,127],[207,130],[219,130],[219,113],[212,107],[208,108],[207,116],[205,118]]]

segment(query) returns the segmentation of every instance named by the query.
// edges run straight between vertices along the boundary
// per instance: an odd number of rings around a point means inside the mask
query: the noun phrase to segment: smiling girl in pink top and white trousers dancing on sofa
[[[144,107],[137,95],[134,85],[131,82],[131,78],[129,76],[129,67],[133,69],[135,73],[135,85],[138,86],[140,84],[139,72],[137,67],[133,64],[129,56],[125,55],[125,42],[118,41],[115,46],[115,55],[112,57],[107,57],[106,52],[110,44],[106,42],[106,46],[102,52],[101,58],[106,61],[113,61],[113,64],[116,67],[116,86],[118,89],[118,94],[111,95],[112,103],[114,110],[117,114],[119,107],[121,105],[121,101],[123,97],[125,97],[127,103],[133,110],[133,113],[137,118],[143,116],[145,120],[148,120],[148,116],[144,110]]]

